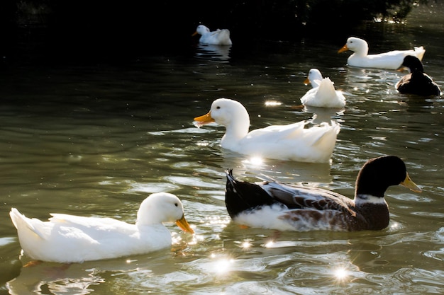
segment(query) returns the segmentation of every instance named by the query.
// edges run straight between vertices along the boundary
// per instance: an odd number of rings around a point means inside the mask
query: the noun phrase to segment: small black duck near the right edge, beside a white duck
[[[416,94],[418,96],[440,96],[442,91],[437,83],[424,73],[423,64],[418,57],[407,55],[398,70],[409,69],[410,73],[403,76],[395,85],[399,93]]]

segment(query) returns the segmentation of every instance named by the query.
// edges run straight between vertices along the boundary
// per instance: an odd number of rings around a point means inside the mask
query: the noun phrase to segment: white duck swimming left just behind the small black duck
[[[406,55],[414,55],[422,60],[426,50],[424,47],[414,47],[413,50],[394,50],[379,54],[368,54],[367,41],[358,37],[349,37],[347,43],[338,53],[351,50],[354,53],[348,57],[349,66],[377,69],[397,69]]]

